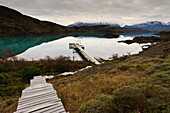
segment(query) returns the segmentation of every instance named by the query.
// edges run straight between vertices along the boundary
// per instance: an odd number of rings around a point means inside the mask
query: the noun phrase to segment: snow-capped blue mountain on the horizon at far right
[[[144,30],[159,30],[159,29],[165,29],[165,28],[170,28],[170,23],[166,24],[160,21],[151,21],[151,22],[146,22],[146,23],[141,23],[141,24],[135,24],[135,25],[126,25],[124,28],[141,28]]]

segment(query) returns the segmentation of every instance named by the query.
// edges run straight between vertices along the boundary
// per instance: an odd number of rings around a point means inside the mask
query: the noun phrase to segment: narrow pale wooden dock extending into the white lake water
[[[87,53],[83,48],[82,45],[78,44],[78,43],[70,43],[69,44],[70,48],[73,49],[78,49],[79,52],[81,52],[81,54],[90,62],[93,62],[95,64],[100,64],[100,62],[98,62],[93,56],[91,56],[89,53]]]

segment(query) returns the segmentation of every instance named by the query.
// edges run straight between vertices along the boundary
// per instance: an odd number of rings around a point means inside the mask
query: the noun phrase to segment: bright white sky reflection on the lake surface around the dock
[[[118,43],[120,40],[133,39],[133,36],[120,36],[119,38],[97,38],[97,37],[64,37],[47,43],[31,47],[25,52],[18,54],[18,57],[27,60],[38,60],[50,56],[52,58],[60,55],[73,57],[75,60],[81,60],[80,56],[74,50],[69,49],[69,43],[81,43],[85,47],[85,51],[95,58],[109,59],[113,54],[119,56],[137,54],[142,51],[140,44],[133,43],[131,45]]]

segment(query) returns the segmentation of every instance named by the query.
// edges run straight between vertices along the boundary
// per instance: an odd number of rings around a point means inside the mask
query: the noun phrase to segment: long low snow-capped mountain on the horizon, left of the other
[[[96,25],[108,25],[110,27],[120,27],[118,24],[111,24],[111,23],[84,23],[84,22],[76,22],[74,24],[68,25],[68,27],[79,27],[79,26],[96,26]]]

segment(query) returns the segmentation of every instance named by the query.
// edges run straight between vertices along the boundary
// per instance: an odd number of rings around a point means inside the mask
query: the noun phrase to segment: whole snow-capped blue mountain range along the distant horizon
[[[108,25],[110,27],[121,27],[118,24],[84,23],[84,22],[76,22],[74,24],[68,25],[68,27],[96,26],[96,25]],[[125,25],[123,26],[123,28],[140,28],[140,29],[149,30],[149,31],[170,31],[170,22],[166,24],[160,21],[150,21],[150,22],[134,24],[134,25]]]

